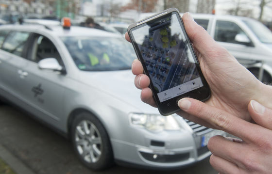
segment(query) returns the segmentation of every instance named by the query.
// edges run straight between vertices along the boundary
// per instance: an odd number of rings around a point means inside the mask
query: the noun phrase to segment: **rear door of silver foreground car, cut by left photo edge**
[[[1,31],[2,34],[5,31]],[[29,38],[29,32],[10,31],[1,44],[0,51],[0,89],[2,96],[13,102],[19,103],[22,99],[18,91],[20,85],[19,78],[25,78],[22,68],[26,66],[25,59],[22,57]],[[1,39],[2,40],[2,39]]]

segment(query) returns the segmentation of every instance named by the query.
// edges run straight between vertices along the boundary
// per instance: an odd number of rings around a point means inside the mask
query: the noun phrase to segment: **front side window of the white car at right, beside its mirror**
[[[216,22],[214,39],[219,42],[235,43],[235,37],[240,34],[246,36],[246,33],[234,22],[218,20]]]

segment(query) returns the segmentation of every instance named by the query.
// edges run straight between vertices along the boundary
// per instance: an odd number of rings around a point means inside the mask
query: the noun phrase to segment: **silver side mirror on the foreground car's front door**
[[[46,59],[40,60],[38,62],[38,67],[40,69],[48,69],[48,70],[52,70],[52,71],[59,71],[62,74],[66,73],[63,66],[61,66],[55,58],[46,58]]]

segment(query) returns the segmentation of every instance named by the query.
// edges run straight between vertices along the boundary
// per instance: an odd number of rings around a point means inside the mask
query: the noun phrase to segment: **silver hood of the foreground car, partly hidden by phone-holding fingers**
[[[111,97],[119,98],[119,100],[130,104],[139,112],[159,113],[156,108],[141,101],[141,90],[135,87],[134,78],[135,76],[131,70],[82,71],[79,75],[80,81],[88,86],[99,89],[102,93],[109,94]]]

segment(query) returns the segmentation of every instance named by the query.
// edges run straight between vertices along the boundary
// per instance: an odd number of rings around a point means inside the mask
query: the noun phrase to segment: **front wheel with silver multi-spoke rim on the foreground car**
[[[113,164],[108,134],[94,115],[78,114],[72,123],[71,138],[76,154],[90,169],[102,170]]]

